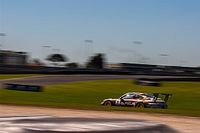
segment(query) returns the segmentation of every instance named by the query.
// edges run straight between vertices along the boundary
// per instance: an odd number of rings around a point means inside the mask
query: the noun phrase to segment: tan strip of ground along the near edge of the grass
[[[133,124],[138,127],[143,124],[161,124],[166,125],[170,129],[174,129],[177,132],[181,133],[199,133],[200,131],[200,118],[199,117],[187,117],[187,116],[175,116],[175,115],[166,115],[166,114],[148,114],[148,113],[138,113],[138,112],[120,112],[120,111],[90,111],[90,110],[73,110],[73,109],[59,109],[59,108],[46,108],[46,107],[32,107],[32,106],[14,106],[14,105],[0,105],[0,121],[4,119],[4,123],[0,123],[1,126],[5,127],[5,119],[13,119],[11,116],[51,116],[57,118],[68,118],[68,119],[125,119],[125,122],[128,122],[127,125]],[[47,117],[48,118],[48,117]],[[56,119],[52,119],[56,121]],[[18,119],[19,120],[19,119]],[[44,122],[44,121],[43,121]],[[50,122],[50,121],[49,121]],[[120,123],[110,123],[107,121],[107,126],[110,125],[111,128],[115,126],[120,126]],[[133,123],[131,123],[133,122]],[[3,125],[2,125],[3,124]],[[19,122],[15,123],[20,124]],[[46,123],[47,125],[52,123]],[[54,123],[55,124],[55,123]],[[97,126],[102,123],[96,123],[93,126]],[[105,124],[105,122],[104,122]],[[21,126],[23,125],[23,122]],[[26,121],[25,126],[30,128],[30,121]],[[43,125],[45,125],[43,123]],[[58,124],[57,124],[58,125]],[[55,125],[52,125],[55,126]],[[69,126],[69,125],[68,125]],[[77,125],[70,125],[71,129]],[[88,126],[92,126],[91,123],[88,123]],[[101,125],[102,126],[102,125]],[[130,125],[129,125],[130,126]],[[166,126],[162,128],[166,128]],[[36,126],[37,128],[38,126]],[[78,126],[79,127],[79,126]],[[82,127],[84,128],[84,127]],[[90,128],[91,129],[91,128]],[[174,131],[170,130],[170,132]],[[167,131],[167,130],[166,130]],[[162,131],[163,133],[165,131]],[[175,132],[175,131],[174,131]],[[158,132],[159,133],[159,132]]]

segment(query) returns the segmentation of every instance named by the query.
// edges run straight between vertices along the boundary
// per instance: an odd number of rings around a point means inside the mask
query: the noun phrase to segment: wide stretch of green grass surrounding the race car
[[[126,92],[172,93],[169,109],[104,107],[104,98],[117,98]],[[43,92],[0,90],[1,104],[23,104],[93,110],[141,111],[200,116],[199,82],[163,82],[161,87],[138,86],[131,80],[101,80],[46,86]]]

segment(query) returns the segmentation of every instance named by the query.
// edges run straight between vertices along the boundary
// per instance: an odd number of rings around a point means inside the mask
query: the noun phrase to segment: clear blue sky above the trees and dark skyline
[[[0,0],[0,33],[31,58],[200,66],[199,0]]]

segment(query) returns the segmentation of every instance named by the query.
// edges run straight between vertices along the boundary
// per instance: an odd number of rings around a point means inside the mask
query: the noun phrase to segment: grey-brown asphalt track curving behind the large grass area
[[[4,83],[52,85],[52,84],[77,82],[77,81],[134,79],[134,78],[184,78],[184,77],[145,76],[145,75],[49,75],[49,76],[36,76],[36,77],[0,80],[0,85]]]

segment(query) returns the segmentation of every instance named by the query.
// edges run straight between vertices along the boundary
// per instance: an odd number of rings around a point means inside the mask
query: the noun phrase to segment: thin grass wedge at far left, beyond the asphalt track
[[[0,80],[12,79],[12,78],[24,78],[32,76],[40,76],[40,74],[0,74]]]

